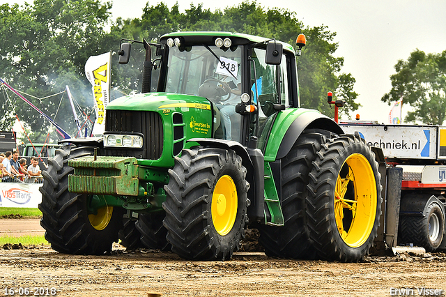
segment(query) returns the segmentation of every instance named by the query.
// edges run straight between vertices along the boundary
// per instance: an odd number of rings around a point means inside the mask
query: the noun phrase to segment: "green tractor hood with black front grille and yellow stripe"
[[[143,135],[144,146],[125,157],[137,158],[139,165],[172,167],[174,157],[192,145],[186,144],[187,139],[212,137],[215,123],[211,107],[206,98],[177,93],[124,96],[107,105],[105,131]]]

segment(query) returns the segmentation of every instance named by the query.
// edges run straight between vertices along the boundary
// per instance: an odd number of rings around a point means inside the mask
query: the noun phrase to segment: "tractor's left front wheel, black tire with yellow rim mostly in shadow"
[[[46,230],[45,238],[54,250],[66,254],[104,254],[112,250],[122,228],[122,208],[105,207],[97,215],[87,212],[90,197],[68,192],[68,174],[74,169],[68,160],[92,155],[93,148],[63,146],[49,159],[43,172],[43,213],[40,224]],[[94,227],[93,227],[94,226]]]

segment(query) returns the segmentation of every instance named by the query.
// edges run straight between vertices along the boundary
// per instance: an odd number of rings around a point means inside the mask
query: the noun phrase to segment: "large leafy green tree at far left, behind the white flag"
[[[111,3],[99,0],[35,0],[25,4],[0,6],[0,38],[7,40],[0,52],[0,77],[15,89],[35,98],[59,93],[70,86],[82,106],[91,106],[91,85],[84,64],[92,54],[107,52],[102,47],[104,26],[109,22]],[[59,106],[54,98],[28,98],[61,127],[75,135],[75,125],[67,96]],[[19,116],[33,131],[33,139],[43,141],[49,124],[29,105],[3,93],[2,129],[10,129],[12,116]],[[90,102],[90,103],[89,103]],[[9,105],[9,106],[6,106]],[[5,108],[7,107],[7,108]]]

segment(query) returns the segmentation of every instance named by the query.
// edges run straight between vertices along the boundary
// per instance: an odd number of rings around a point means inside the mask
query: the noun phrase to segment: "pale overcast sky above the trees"
[[[0,3],[23,3],[4,1]],[[29,1],[32,2],[32,1]],[[155,6],[160,1],[150,1]],[[169,8],[177,0],[164,0]],[[114,1],[113,18],[141,17],[146,0]],[[203,8],[224,9],[240,1],[178,0],[180,10],[190,4]],[[285,8],[295,12],[305,26],[328,26],[336,32],[334,41],[339,44],[334,56],[344,57],[341,73],[351,73],[356,79],[354,91],[362,107],[351,114],[360,114],[362,120],[389,123],[391,107],[380,98],[392,87],[390,75],[398,60],[408,59],[416,49],[426,53],[446,50],[445,0],[259,0],[263,8]],[[300,32],[295,32],[296,37]],[[305,54],[305,52],[304,52]],[[305,73],[299,73],[300,76]],[[314,90],[318,91],[318,90]],[[407,108],[403,105],[403,116]]]

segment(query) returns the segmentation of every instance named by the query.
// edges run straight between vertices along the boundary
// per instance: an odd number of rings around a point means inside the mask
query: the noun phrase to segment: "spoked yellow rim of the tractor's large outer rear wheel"
[[[344,242],[352,248],[363,245],[376,218],[376,180],[364,155],[355,153],[344,162],[334,192],[334,215]]]

